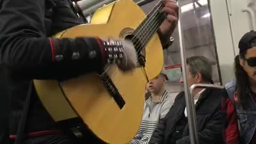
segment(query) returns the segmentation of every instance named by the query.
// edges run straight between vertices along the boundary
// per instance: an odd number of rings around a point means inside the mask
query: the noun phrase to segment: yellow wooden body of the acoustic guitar
[[[145,13],[132,0],[120,0],[97,10],[90,25],[78,25],[55,35],[58,38],[86,36],[121,37],[130,35],[145,18]],[[157,76],[163,66],[163,51],[155,34],[145,47],[146,74]],[[85,66],[86,67],[86,66]],[[122,72],[110,66],[107,72],[122,95],[125,104],[118,107],[96,73],[69,79],[34,79],[36,91],[55,122],[81,118],[97,137],[107,143],[127,143],[137,133],[145,101],[147,77],[141,67]]]

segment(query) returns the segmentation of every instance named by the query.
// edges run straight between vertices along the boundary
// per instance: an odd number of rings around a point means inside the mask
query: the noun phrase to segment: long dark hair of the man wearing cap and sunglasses
[[[235,77],[236,77],[236,90],[238,93],[238,100],[241,102],[242,106],[246,108],[246,103],[248,100],[247,89],[250,89],[249,77],[243,67],[240,65],[239,57],[245,58],[245,52],[240,53],[235,57]]]

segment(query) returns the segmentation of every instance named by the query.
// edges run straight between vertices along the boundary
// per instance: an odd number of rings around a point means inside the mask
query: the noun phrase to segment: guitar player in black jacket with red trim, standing
[[[178,6],[166,1],[167,18],[158,34],[163,47],[177,25]],[[111,59],[108,45],[97,37],[49,38],[67,28],[86,23],[82,10],[71,0],[0,0],[0,58],[8,70],[10,91],[10,143],[76,143],[57,128],[43,108],[32,79],[66,79],[100,71],[114,61],[121,70],[135,67],[137,58],[130,42],[123,45],[127,57]],[[115,64],[115,63],[113,63]],[[95,95],[97,97],[97,95]],[[58,106],[58,104],[57,104]],[[92,142],[95,143],[95,142]]]

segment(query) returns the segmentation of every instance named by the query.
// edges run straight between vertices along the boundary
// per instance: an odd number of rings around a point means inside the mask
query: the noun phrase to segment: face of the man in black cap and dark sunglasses
[[[239,58],[240,65],[246,71],[246,73],[250,77],[250,79],[252,81],[256,82],[256,66],[248,65],[248,62],[250,64],[250,61],[252,61],[252,63],[256,63],[256,62],[254,62],[254,61],[256,61],[256,46],[247,50],[247,53],[245,54],[245,59],[247,59],[247,60],[244,60],[243,58]],[[248,61],[248,59],[249,59],[249,61]],[[254,59],[254,60],[250,60],[250,59]]]

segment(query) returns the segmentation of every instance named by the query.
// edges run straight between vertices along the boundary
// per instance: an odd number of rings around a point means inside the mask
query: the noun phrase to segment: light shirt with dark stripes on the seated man
[[[166,90],[157,102],[153,102],[152,97],[150,96],[144,103],[144,111],[140,128],[129,144],[148,143],[151,135],[158,126],[159,120],[163,118],[172,107],[174,99],[175,96],[171,95]]]

